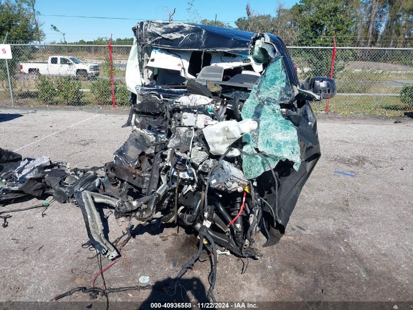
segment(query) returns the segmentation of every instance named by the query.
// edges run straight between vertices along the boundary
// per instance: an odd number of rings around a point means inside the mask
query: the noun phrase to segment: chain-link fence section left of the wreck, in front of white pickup
[[[11,49],[14,105],[112,104],[107,46],[17,44]],[[129,52],[130,46],[112,46],[116,105],[129,104],[125,84]],[[0,64],[0,104],[11,104],[4,64]]]

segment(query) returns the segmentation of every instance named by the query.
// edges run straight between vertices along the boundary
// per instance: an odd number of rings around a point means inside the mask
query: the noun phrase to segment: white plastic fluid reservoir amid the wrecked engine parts
[[[209,151],[213,155],[223,155],[228,147],[251,130],[257,129],[258,123],[253,119],[241,121],[225,120],[202,129]],[[239,152],[231,150],[229,156],[237,156]]]

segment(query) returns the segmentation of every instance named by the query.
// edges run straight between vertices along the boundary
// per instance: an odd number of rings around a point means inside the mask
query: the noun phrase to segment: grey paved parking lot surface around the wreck
[[[127,110],[90,108],[2,109],[0,145],[23,157],[46,155],[72,167],[101,166],[129,136],[130,128],[121,128],[127,115]],[[387,118],[321,115],[318,130],[322,157],[285,236],[277,245],[262,248],[260,260],[249,260],[244,274],[238,258],[219,256],[217,300],[385,302],[389,309],[411,309],[413,119],[394,123]],[[0,210],[37,203],[25,200]],[[80,210],[54,202],[46,213],[43,218],[41,209],[15,213],[7,228],[0,227],[1,309],[8,301],[48,301],[73,287],[89,287],[100,269],[96,258],[89,259],[94,252],[81,247],[87,233]],[[125,223],[109,215],[108,225],[113,240]],[[196,252],[196,242],[184,229],[177,233],[176,227],[145,227],[104,273],[106,284],[138,285],[141,275],[150,276],[150,284],[165,283]],[[206,258],[196,262],[181,282],[194,292],[189,295],[195,300],[206,301],[209,271]],[[100,277],[96,285],[102,286]],[[174,296],[126,291],[110,294],[109,300],[148,303],[182,300],[180,295],[186,293],[177,287]],[[93,303],[84,293],[74,294],[71,301]]]

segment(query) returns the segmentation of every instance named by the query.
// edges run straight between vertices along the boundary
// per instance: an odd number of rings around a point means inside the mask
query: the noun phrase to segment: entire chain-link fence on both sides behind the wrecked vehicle
[[[300,80],[329,76],[332,48],[289,47]],[[130,46],[112,46],[115,103],[129,104],[125,70]],[[112,103],[109,48],[83,45],[12,45],[9,60],[15,105]],[[413,111],[413,48],[337,48],[337,95],[329,111],[402,114]],[[324,111],[326,100],[313,103]],[[0,60],[0,105],[10,105],[7,73]]]

